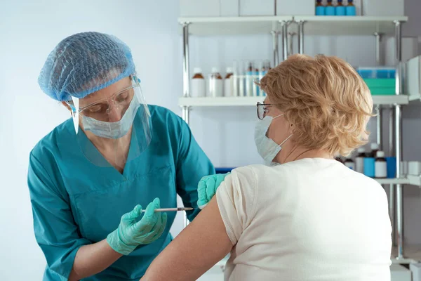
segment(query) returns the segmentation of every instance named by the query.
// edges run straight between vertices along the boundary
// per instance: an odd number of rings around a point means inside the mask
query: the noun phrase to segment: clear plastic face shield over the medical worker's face
[[[96,166],[123,170],[149,146],[149,108],[134,74],[85,98],[72,97],[67,104],[79,147]]]

